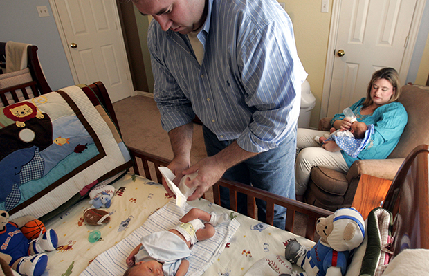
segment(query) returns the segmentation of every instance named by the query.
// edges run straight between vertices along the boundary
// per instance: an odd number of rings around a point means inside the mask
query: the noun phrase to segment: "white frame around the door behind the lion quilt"
[[[119,12],[118,12],[118,6],[116,6],[116,0],[110,0],[110,1],[115,2],[115,5],[113,5],[113,9],[114,9],[113,13],[116,17],[115,18],[116,22],[118,22],[118,24],[120,24]],[[64,33],[64,28],[62,28],[62,22],[60,19],[60,14],[58,13],[58,9],[57,9],[57,5],[55,4],[55,0],[49,0],[49,4],[51,5],[52,14],[53,14],[53,17],[55,19],[55,24],[57,25],[58,33],[60,34],[60,39],[62,42],[62,46],[64,48],[64,53],[66,54],[67,62],[69,63],[71,75],[73,77],[73,82],[75,82],[75,84],[79,84],[79,78],[77,77],[76,68],[75,68],[75,65],[73,63],[73,59],[72,59],[71,53],[70,53],[69,43],[67,42],[66,34]],[[122,55],[125,59],[125,64],[127,66],[127,68],[125,68],[125,70],[127,70],[126,74],[128,75],[127,82],[129,82],[129,86],[131,87],[131,96],[134,96],[134,95],[137,95],[137,93],[134,90],[134,84],[131,80],[131,71],[129,69],[129,62],[128,62],[128,58],[127,58],[127,53],[125,52],[124,35],[122,34],[121,26],[117,25],[116,29],[119,31],[120,41],[122,42],[122,47],[121,47],[122,48]]]

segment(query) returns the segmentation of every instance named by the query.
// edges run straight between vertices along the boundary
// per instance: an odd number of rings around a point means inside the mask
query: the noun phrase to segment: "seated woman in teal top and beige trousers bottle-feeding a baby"
[[[324,142],[320,147],[314,137],[322,136],[326,131],[298,129],[297,147],[302,150],[295,163],[297,199],[302,200],[307,189],[311,167],[329,167],[347,173],[355,160],[384,159],[389,156],[398,144],[408,120],[407,111],[401,103],[396,102],[400,95],[399,75],[394,68],[374,72],[368,84],[367,97],[350,107],[359,122],[374,125],[374,133],[357,158],[345,154],[333,140]],[[352,126],[352,122],[340,113],[334,116],[331,125],[335,129],[345,130]]]

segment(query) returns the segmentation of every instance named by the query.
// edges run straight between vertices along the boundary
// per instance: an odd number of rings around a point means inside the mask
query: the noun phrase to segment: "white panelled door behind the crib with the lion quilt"
[[[55,6],[75,82],[102,81],[112,102],[132,95],[116,0],[55,0]]]

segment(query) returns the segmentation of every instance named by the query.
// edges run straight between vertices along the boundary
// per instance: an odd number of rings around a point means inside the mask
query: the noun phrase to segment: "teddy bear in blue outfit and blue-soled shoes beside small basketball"
[[[0,258],[21,275],[39,276],[48,266],[48,255],[44,252],[55,250],[58,237],[53,229],[47,229],[29,241],[19,228],[33,219],[26,216],[9,221],[9,213],[0,210]]]

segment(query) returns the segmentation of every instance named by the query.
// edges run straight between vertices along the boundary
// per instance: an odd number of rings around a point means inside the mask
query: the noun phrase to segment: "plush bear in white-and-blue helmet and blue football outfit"
[[[350,253],[365,235],[362,215],[354,208],[338,209],[329,217],[318,219],[316,231],[320,239],[311,250],[296,239],[288,241],[286,259],[305,270],[294,275],[345,275]]]

